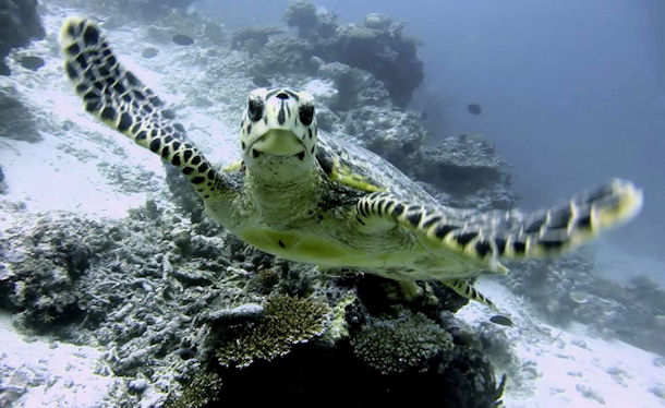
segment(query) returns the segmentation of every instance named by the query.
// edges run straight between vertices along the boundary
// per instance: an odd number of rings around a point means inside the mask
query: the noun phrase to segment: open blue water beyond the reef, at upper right
[[[226,1],[229,26],[279,23],[288,0]],[[521,208],[540,208],[598,180],[622,177],[646,191],[642,216],[598,248],[662,264],[665,220],[665,4],[658,0],[319,1],[343,21],[380,11],[422,40],[423,85],[410,107],[434,136],[481,133],[512,166]],[[215,14],[218,2],[200,7]],[[469,104],[482,106],[470,115]],[[616,237],[621,235],[619,239]],[[615,252],[620,252],[618,256]],[[626,253],[627,252],[627,253]],[[634,271],[636,273],[639,273]],[[609,272],[608,272],[609,273]],[[643,273],[643,272],[642,272]],[[665,266],[651,274],[661,284]]]

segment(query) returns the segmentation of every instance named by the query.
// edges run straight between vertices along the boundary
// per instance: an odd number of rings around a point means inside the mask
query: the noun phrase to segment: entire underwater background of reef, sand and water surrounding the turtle
[[[0,406],[665,406],[662,1],[0,12]],[[239,157],[247,93],[290,86],[314,94],[323,131],[443,204],[536,209],[621,177],[644,207],[569,255],[481,277],[512,326],[437,283],[275,259],[83,111],[59,53],[69,15],[97,19],[215,161]]]

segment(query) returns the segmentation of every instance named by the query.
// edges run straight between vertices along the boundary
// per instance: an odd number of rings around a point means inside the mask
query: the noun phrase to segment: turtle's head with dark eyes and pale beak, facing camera
[[[252,91],[241,132],[243,161],[253,177],[288,182],[315,168],[316,118],[309,93]]]

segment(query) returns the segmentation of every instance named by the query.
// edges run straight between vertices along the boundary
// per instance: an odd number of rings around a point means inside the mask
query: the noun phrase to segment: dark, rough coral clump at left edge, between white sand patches
[[[0,240],[1,305],[15,313],[20,326],[44,332],[83,316],[75,281],[107,244],[96,233],[81,240],[84,230],[110,232],[94,221],[52,214],[9,229]]]

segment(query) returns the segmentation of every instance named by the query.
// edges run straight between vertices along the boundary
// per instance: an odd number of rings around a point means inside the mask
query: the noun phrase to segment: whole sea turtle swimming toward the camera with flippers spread
[[[533,214],[443,206],[388,161],[319,132],[312,96],[289,88],[250,93],[242,159],[218,168],[118,62],[93,21],[68,19],[60,41],[85,110],[179,168],[231,233],[286,260],[436,279],[492,305],[470,278],[506,273],[503,259],[560,253],[641,207],[641,191],[618,179]]]

